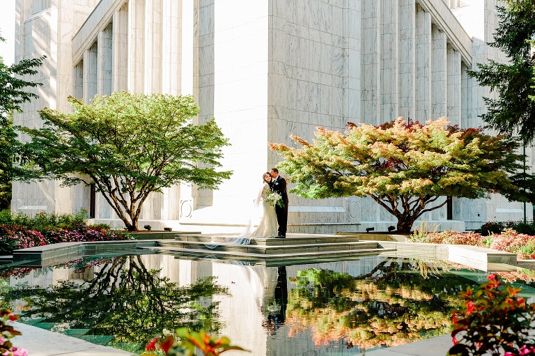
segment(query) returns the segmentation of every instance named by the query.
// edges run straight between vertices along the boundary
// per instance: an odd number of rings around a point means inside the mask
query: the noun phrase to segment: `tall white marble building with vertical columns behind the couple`
[[[216,191],[182,184],[153,194],[140,226],[233,231],[253,203],[261,175],[280,160],[267,142],[313,137],[317,126],[378,125],[398,116],[447,116],[482,125],[477,63],[505,61],[489,47],[496,0],[16,0],[15,61],[47,55],[40,99],[15,124],[42,125],[38,109],[70,111],[68,95],[193,94],[196,122],[215,117],[232,146],[231,180]],[[23,137],[24,139],[24,137]],[[533,167],[533,148],[527,148]],[[13,184],[12,210],[72,212],[121,226],[99,194],[59,182]],[[229,208],[231,207],[231,208]],[[532,219],[532,207],[527,217]],[[440,229],[474,229],[520,219],[501,196],[452,199],[428,212]],[[386,230],[394,217],[371,199],[310,201],[290,196],[290,232]]]

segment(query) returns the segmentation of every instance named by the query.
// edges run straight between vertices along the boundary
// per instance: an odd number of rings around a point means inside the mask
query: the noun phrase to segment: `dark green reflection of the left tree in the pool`
[[[217,332],[217,305],[213,295],[228,294],[212,277],[179,287],[148,270],[140,256],[123,256],[101,265],[91,281],[61,281],[52,288],[14,288],[5,296],[25,300],[25,317],[42,322],[68,323],[88,334],[114,335],[115,342],[143,343],[162,330],[187,326]]]

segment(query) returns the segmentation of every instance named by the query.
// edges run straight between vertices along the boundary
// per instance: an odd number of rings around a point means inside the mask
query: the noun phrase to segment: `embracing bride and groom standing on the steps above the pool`
[[[284,206],[272,206],[267,201],[267,192],[272,191],[279,194]],[[279,176],[279,170],[272,168],[270,172],[263,175],[262,198],[262,219],[258,228],[251,232],[251,238],[286,238],[286,225],[288,224],[288,193],[286,192],[286,180]],[[278,229],[277,229],[278,224]]]

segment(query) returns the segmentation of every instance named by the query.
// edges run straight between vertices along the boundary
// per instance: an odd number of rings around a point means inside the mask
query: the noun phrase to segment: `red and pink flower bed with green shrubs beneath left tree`
[[[76,215],[55,215],[39,212],[35,217],[0,215],[0,254],[15,249],[55,244],[59,242],[131,240],[130,235],[104,225],[88,225],[85,210]]]

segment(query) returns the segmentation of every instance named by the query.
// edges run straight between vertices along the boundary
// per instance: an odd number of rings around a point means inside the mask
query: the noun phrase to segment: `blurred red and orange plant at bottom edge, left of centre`
[[[223,336],[216,339],[206,332],[189,332],[187,327],[181,327],[176,330],[177,336],[181,339],[176,341],[173,336],[167,336],[165,339],[155,338],[146,347],[147,353],[143,355],[157,356],[157,353],[167,356],[194,356],[195,348],[199,348],[205,356],[218,356],[228,350],[242,350],[239,346],[232,346],[231,341]]]

